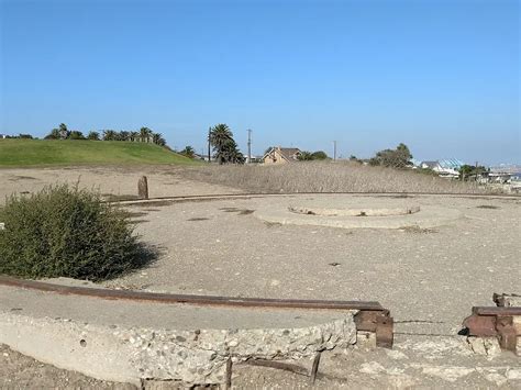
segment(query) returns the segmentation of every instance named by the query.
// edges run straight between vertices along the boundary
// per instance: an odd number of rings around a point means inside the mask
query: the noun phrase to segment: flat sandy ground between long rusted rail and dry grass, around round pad
[[[329,196],[315,196],[323,197]],[[375,300],[391,310],[399,332],[446,335],[457,333],[473,305],[489,305],[494,292],[521,288],[519,200],[410,198],[414,204],[461,211],[454,223],[426,231],[267,224],[252,213],[266,203],[296,204],[299,198],[309,197],[130,208],[137,232],[160,257],[107,286]]]

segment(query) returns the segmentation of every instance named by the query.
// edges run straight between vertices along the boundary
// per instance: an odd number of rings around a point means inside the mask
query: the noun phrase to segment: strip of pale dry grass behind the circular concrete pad
[[[189,179],[250,192],[442,192],[486,193],[474,183],[451,181],[411,170],[357,163],[295,163],[281,166],[204,166],[182,169]]]

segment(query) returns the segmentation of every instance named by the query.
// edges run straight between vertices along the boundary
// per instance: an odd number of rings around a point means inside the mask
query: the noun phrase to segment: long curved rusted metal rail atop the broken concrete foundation
[[[90,287],[62,286],[36,280],[22,280],[0,275],[0,286],[53,292],[63,296],[84,296],[107,300],[128,300],[153,303],[184,303],[202,307],[250,309],[303,309],[303,310],[357,310],[355,323],[358,331],[374,332],[376,345],[391,348],[393,321],[390,312],[378,302],[297,300],[265,298],[233,298],[217,296],[170,294],[132,290],[110,290]]]

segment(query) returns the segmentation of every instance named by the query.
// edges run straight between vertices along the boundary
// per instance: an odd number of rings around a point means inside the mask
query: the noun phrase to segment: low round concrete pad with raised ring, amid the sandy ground
[[[269,202],[255,211],[269,223],[344,229],[431,229],[454,223],[462,212],[409,198],[366,196],[295,197]]]

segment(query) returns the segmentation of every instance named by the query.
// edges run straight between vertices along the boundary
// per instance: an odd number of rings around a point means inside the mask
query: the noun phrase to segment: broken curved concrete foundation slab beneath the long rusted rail
[[[98,379],[220,383],[226,361],[356,343],[356,311],[195,308],[0,287],[0,343]]]

